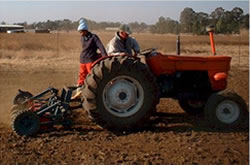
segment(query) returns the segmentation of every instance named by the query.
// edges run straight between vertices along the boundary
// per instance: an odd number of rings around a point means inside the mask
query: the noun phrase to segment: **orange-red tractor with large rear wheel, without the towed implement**
[[[100,126],[127,130],[145,125],[160,98],[173,98],[189,114],[204,113],[214,126],[236,127],[248,110],[239,95],[223,92],[230,61],[229,56],[163,55],[155,49],[139,57],[101,58],[85,80],[83,107]]]

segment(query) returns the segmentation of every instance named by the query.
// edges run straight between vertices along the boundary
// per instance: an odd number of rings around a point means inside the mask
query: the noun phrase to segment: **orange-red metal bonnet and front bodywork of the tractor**
[[[162,55],[147,59],[147,64],[156,75],[174,74],[176,71],[207,71],[212,89],[224,90],[227,86],[227,73],[230,69],[229,56],[177,56]]]

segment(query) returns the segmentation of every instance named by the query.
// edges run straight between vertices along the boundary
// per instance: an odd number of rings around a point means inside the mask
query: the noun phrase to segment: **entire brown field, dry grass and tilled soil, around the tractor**
[[[104,45],[114,32],[95,32]],[[141,49],[175,54],[175,35],[133,34]],[[218,55],[232,57],[228,89],[249,106],[249,34],[215,35]],[[8,126],[17,89],[36,94],[49,86],[76,83],[78,33],[0,33],[0,164],[249,164],[249,127],[210,128],[171,99],[161,99],[152,126],[113,134],[79,110],[72,130],[58,128],[33,138],[17,137]],[[182,55],[211,55],[208,36],[181,35]]]

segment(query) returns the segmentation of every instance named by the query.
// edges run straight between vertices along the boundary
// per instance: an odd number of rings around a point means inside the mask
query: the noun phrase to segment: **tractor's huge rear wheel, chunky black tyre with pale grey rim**
[[[131,56],[100,61],[84,84],[84,109],[97,124],[110,130],[142,127],[159,102],[155,77]]]

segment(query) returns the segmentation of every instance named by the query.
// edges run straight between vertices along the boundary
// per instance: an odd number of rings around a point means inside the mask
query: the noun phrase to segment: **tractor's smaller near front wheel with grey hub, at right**
[[[205,117],[218,128],[238,127],[248,120],[247,105],[236,93],[215,93],[208,98]]]

